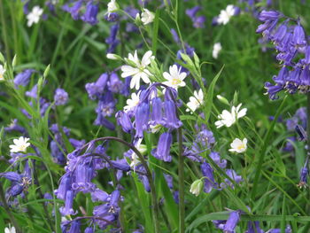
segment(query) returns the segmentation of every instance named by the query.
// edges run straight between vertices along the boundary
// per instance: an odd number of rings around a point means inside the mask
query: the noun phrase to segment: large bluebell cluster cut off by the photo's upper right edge
[[[269,97],[277,98],[277,93],[281,90],[290,94],[308,92],[310,47],[300,19],[287,18],[283,13],[275,11],[262,11],[259,19],[263,24],[256,32],[274,43],[275,50],[278,51],[276,59],[283,64],[279,74],[273,77],[275,84],[265,83]]]

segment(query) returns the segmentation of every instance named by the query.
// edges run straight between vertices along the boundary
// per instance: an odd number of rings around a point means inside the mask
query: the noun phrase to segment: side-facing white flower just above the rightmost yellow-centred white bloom
[[[242,104],[233,106],[231,108],[231,113],[229,111],[224,110],[220,115],[218,115],[217,121],[215,121],[216,128],[221,128],[222,126],[230,127],[232,126],[237,119],[245,116],[247,109],[243,108],[240,110]],[[239,111],[240,110],[240,111]]]

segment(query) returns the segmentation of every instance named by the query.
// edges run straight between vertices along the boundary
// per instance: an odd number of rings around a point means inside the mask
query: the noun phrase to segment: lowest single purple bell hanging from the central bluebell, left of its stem
[[[163,133],[159,136],[159,144],[157,149],[152,152],[152,155],[165,162],[170,162],[172,157],[170,155],[170,148],[172,145],[172,135],[170,133]]]

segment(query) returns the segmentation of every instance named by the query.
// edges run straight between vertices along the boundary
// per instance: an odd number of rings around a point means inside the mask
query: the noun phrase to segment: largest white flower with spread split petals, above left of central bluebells
[[[130,89],[133,89],[136,87],[136,89],[140,88],[140,79],[143,80],[145,83],[150,83],[149,77],[151,76],[151,73],[147,70],[147,66],[151,64],[151,59],[154,59],[154,56],[151,56],[151,50],[148,50],[143,55],[142,60],[140,61],[138,58],[138,55],[132,55],[131,53],[128,54],[128,58],[126,58],[130,63],[134,63],[135,66],[128,66],[124,65],[121,66],[121,71],[123,72],[121,74],[122,78],[126,78],[129,76],[132,76],[131,82],[130,82]]]

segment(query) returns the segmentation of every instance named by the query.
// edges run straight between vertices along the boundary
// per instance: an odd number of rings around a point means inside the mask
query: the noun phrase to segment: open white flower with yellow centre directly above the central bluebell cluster
[[[169,74],[170,73],[170,74]],[[163,82],[163,84],[166,84],[168,87],[178,89],[178,87],[184,87],[185,82],[183,80],[186,78],[186,73],[181,73],[181,66],[178,69],[178,66],[170,66],[169,67],[169,73],[164,72],[164,78],[167,80],[166,82]]]

